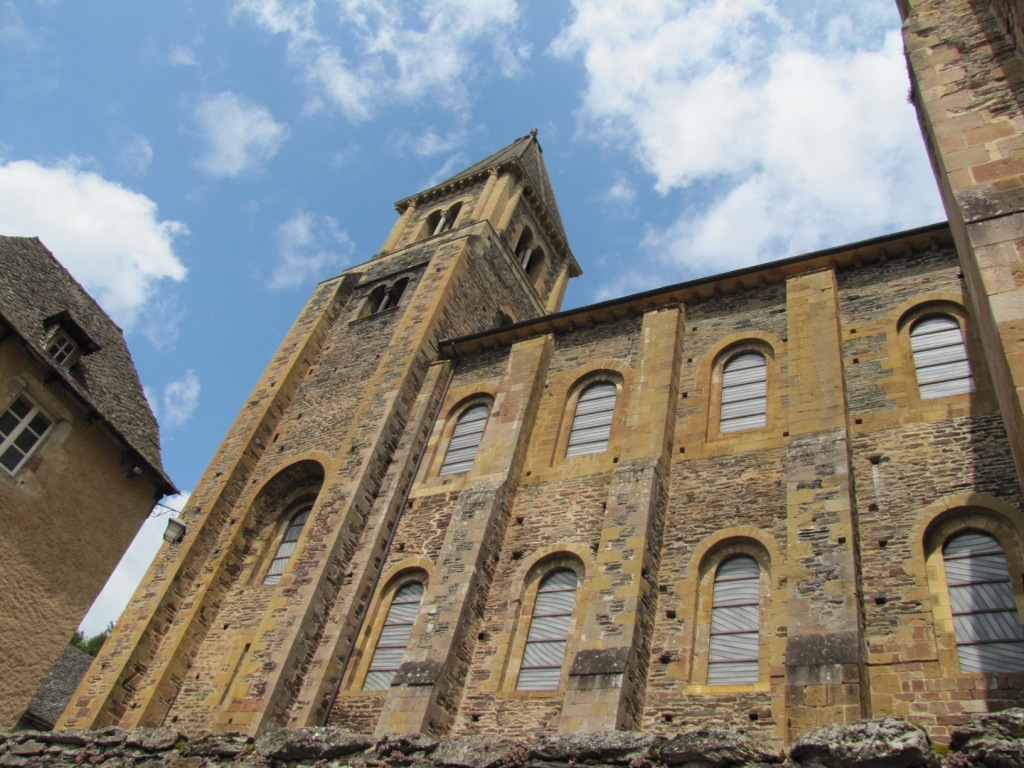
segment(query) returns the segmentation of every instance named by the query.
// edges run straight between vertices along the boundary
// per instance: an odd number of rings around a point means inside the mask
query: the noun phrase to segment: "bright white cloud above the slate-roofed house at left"
[[[163,281],[185,276],[174,240],[187,227],[160,220],[147,197],[75,158],[52,167],[0,165],[0,232],[38,236],[126,330]]]

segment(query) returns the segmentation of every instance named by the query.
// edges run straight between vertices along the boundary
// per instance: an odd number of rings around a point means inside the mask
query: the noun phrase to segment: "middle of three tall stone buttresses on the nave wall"
[[[559,731],[640,727],[679,390],[683,312],[648,312],[620,467],[605,502],[593,597],[569,670]]]

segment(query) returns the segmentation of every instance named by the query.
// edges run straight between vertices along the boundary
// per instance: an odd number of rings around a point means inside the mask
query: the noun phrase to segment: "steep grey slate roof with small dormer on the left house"
[[[82,355],[72,369],[74,375],[40,345],[46,321],[62,312],[99,347]],[[0,319],[148,465],[163,493],[177,493],[161,464],[160,429],[142,394],[124,334],[38,238],[0,236]]]

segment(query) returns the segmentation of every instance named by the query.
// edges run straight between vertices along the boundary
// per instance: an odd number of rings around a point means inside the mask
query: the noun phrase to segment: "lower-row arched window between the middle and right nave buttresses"
[[[761,567],[753,557],[730,557],[715,572],[709,685],[758,681],[760,626]]]

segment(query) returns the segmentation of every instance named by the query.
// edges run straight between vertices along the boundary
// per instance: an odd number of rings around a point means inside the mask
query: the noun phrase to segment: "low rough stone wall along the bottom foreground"
[[[1024,765],[1024,710],[982,715],[933,744],[899,718],[814,728],[788,755],[771,752],[742,729],[703,727],[670,736],[635,731],[434,739],[422,734],[375,739],[343,728],[295,728],[259,738],[207,733],[188,739],[167,728],[125,731],[18,731],[0,734],[0,768],[1004,768]]]

